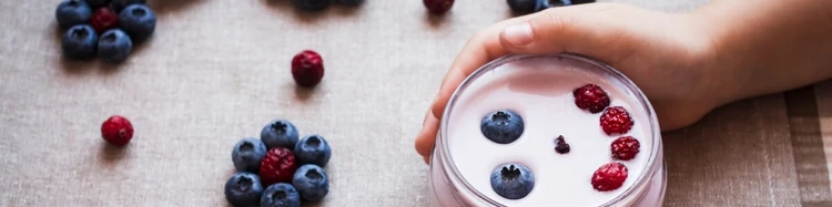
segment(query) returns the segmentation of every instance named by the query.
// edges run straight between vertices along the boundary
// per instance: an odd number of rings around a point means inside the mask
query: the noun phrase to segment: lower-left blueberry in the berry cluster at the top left
[[[61,40],[61,50],[70,59],[91,59],[95,56],[99,35],[88,24],[75,25],[67,30]]]

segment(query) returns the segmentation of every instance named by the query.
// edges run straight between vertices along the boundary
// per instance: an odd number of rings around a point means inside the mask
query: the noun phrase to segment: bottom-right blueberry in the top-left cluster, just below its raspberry
[[[120,29],[109,30],[99,38],[99,58],[106,62],[122,62],[128,59],[132,50],[133,42]]]

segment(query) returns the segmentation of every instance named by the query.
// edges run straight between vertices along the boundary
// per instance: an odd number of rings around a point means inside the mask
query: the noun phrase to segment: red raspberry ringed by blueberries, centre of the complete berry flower
[[[263,186],[276,183],[292,183],[297,170],[295,154],[285,147],[275,147],[266,153],[260,163],[260,179]]]

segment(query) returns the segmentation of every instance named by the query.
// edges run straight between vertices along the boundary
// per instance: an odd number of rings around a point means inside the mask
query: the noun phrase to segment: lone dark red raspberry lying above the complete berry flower
[[[313,87],[324,77],[324,61],[318,53],[304,50],[292,59],[292,77],[301,86]]]

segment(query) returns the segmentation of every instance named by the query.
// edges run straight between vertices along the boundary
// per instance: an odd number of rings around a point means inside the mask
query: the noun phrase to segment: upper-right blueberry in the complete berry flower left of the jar
[[[329,163],[329,157],[332,157],[329,143],[317,134],[308,135],[297,142],[294,153],[301,165],[314,164],[323,167],[326,166],[326,163]]]

